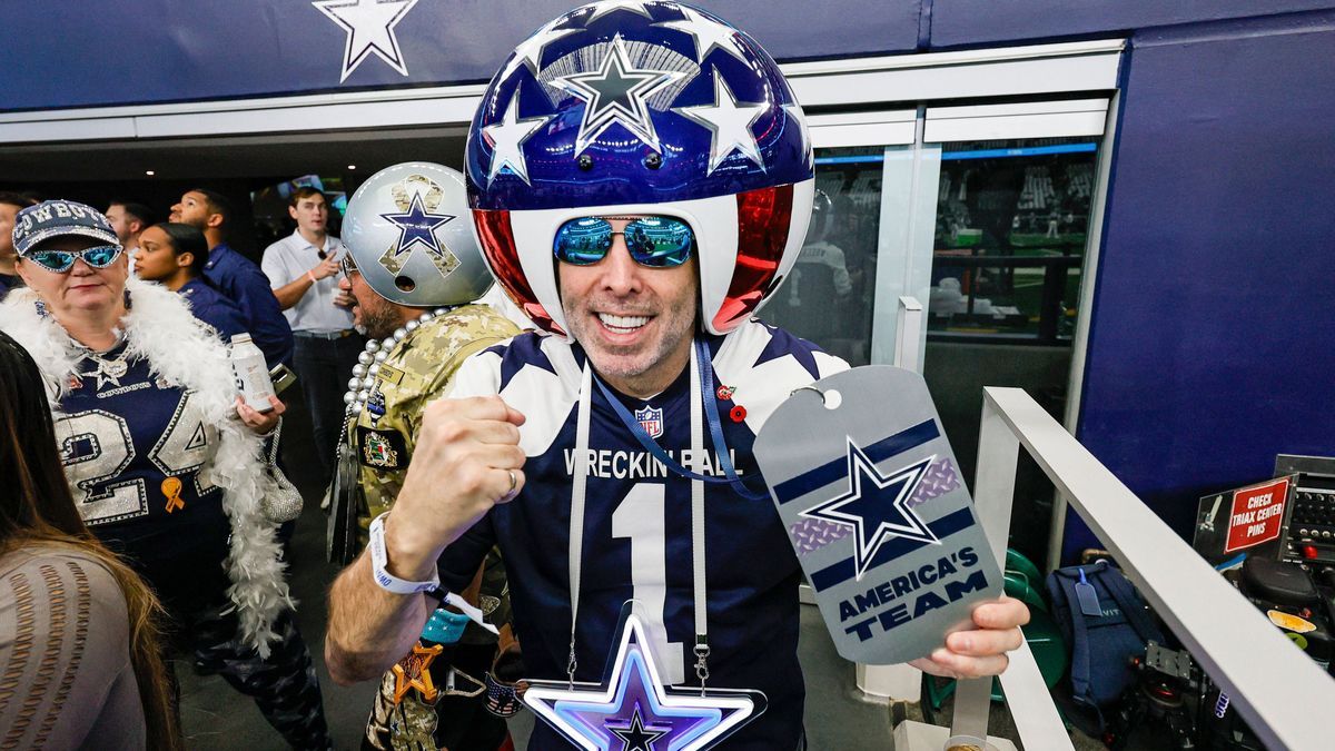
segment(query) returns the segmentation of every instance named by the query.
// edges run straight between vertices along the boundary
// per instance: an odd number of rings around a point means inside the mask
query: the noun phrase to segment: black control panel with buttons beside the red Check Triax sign
[[[1335,564],[1335,457],[1279,454],[1275,474],[1296,474],[1280,539],[1280,560]]]

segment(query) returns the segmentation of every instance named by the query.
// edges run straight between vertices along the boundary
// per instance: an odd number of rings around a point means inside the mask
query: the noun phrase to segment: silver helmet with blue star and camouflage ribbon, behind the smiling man
[[[371,175],[347,202],[342,239],[366,283],[390,302],[463,305],[491,287],[463,175],[441,164],[406,162]]]

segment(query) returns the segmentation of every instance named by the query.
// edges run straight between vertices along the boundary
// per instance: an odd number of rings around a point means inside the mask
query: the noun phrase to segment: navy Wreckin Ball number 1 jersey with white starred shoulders
[[[716,382],[709,398],[718,408],[734,466],[753,490],[761,490],[752,456],[756,433],[793,389],[848,365],[758,322],[710,337],[708,343]],[[566,679],[570,492],[583,362],[578,345],[522,334],[466,362],[451,393],[499,393],[527,418],[519,429],[527,454],[523,492],[450,545],[441,568],[446,587],[459,591],[491,544],[499,544],[526,672],[533,678]],[[700,398],[690,390],[688,367],[661,394],[621,401],[676,461],[722,477],[708,434],[705,457],[682,456],[692,445],[690,398]],[[591,400],[577,680],[603,679],[622,604],[637,599],[646,605],[646,620],[657,621],[649,631],[665,682],[698,686],[692,655],[690,481],[669,472],[635,441],[597,386]],[[706,484],[705,540],[709,686],[760,690],[769,699],[766,714],[732,736],[728,747],[796,748],[804,700],[797,661],[800,567],[788,535],[768,496],[746,500],[726,484]],[[565,742],[537,723],[530,748],[558,747],[565,748]]]

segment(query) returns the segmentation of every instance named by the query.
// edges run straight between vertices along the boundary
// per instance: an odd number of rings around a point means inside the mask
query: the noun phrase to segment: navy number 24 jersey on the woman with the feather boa
[[[116,361],[124,346],[101,359]],[[206,472],[218,429],[203,420],[195,394],[166,384],[147,359],[125,365],[111,378],[83,359],[84,374],[60,401],[56,442],[75,505],[170,605],[216,600],[227,585],[230,532],[222,489]]]

